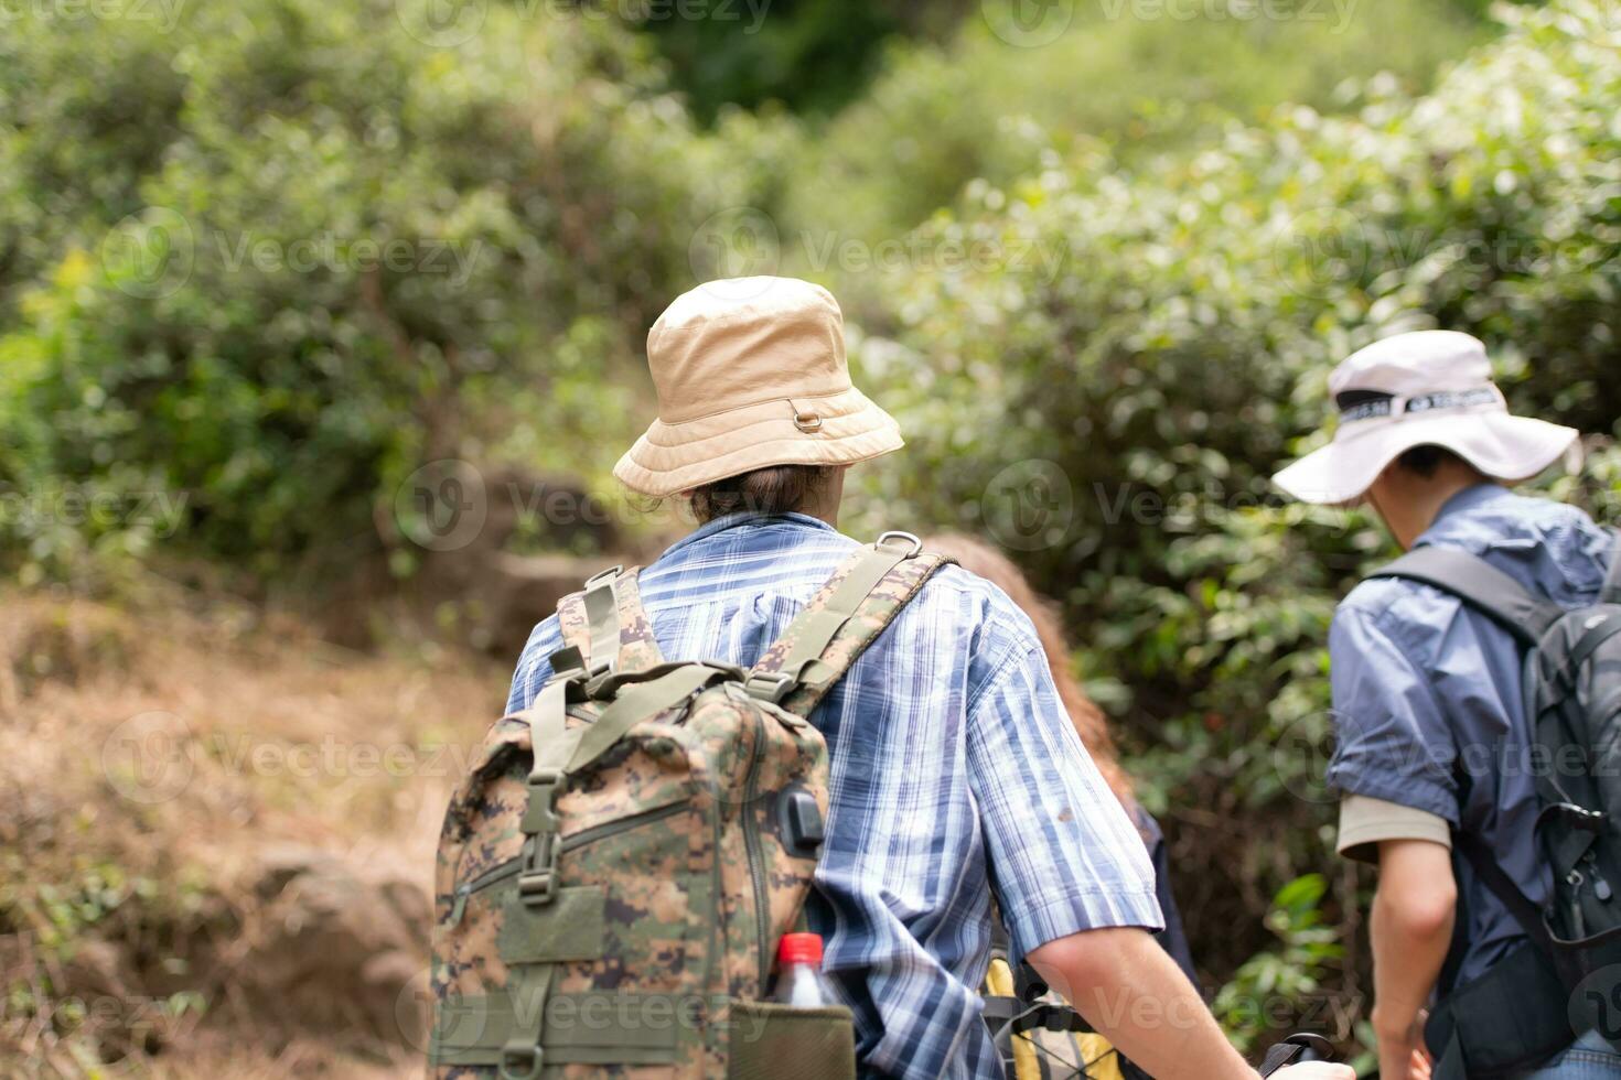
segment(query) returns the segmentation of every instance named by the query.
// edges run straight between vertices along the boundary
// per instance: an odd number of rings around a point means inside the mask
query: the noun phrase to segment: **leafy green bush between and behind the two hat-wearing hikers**
[[[859,356],[909,445],[856,528],[989,533],[1063,601],[1170,816],[1211,972],[1266,946],[1268,897],[1334,861],[1323,646],[1389,546],[1268,486],[1316,445],[1332,363],[1401,329],[1470,330],[1519,408],[1621,434],[1621,28],[1589,0],[1511,18],[1425,97],[971,185],[919,244],[994,257],[870,283],[885,308]],[[1036,272],[1031,249],[1067,261]],[[1616,463],[1559,492],[1613,518]]]

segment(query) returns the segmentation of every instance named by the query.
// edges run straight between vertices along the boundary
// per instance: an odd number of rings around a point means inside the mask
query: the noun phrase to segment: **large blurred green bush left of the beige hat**
[[[491,5],[447,40],[408,10],[8,24],[13,494],[183,492],[190,544],[274,572],[378,549],[426,460],[613,460],[689,238],[763,198],[765,126],[699,134],[616,23]],[[36,562],[86,534],[37,517]]]

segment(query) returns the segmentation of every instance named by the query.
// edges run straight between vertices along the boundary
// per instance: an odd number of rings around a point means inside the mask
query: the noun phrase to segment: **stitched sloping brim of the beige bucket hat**
[[[906,445],[895,418],[854,387],[794,403],[822,426],[802,431],[785,398],[679,424],[658,419],[613,474],[631,491],[663,499],[773,465],[854,465]]]

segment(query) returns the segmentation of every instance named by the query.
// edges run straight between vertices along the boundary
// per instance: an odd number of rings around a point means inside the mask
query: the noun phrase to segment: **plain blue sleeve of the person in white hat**
[[[1336,751],[1329,785],[1459,823],[1457,745],[1435,688],[1378,615],[1342,609],[1329,630]]]

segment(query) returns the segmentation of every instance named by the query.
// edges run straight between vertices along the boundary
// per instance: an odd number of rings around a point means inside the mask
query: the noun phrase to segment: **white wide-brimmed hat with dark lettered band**
[[[1302,502],[1357,502],[1415,447],[1444,447],[1504,483],[1530,479],[1577,452],[1574,427],[1509,415],[1486,347],[1467,334],[1388,337],[1336,368],[1328,387],[1339,405],[1334,440],[1272,478]]]

